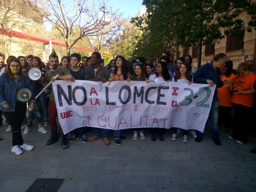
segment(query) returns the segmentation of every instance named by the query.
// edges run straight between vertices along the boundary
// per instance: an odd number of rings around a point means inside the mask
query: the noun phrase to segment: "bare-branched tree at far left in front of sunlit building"
[[[10,55],[12,30],[30,28],[35,32],[42,28],[38,24],[43,23],[39,8],[29,0],[0,0],[0,18],[1,45],[6,57]]]

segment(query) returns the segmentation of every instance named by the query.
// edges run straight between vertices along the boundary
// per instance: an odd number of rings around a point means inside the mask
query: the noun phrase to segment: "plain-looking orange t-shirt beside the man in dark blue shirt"
[[[221,77],[221,80],[230,80],[234,78],[234,74],[231,73],[229,77],[226,77],[226,75]],[[224,107],[233,107],[233,103],[231,102],[232,95],[230,94],[229,84],[223,85],[221,88],[217,88],[218,90],[218,99],[219,99],[219,105]]]

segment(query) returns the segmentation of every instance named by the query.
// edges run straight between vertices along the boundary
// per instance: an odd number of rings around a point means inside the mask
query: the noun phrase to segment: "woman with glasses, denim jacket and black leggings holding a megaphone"
[[[26,115],[26,102],[17,98],[19,90],[27,88],[31,91],[31,104],[29,108],[34,109],[35,94],[31,83],[22,73],[21,63],[17,58],[10,58],[7,63],[7,70],[0,76],[0,108],[9,124],[12,127],[12,152],[19,155],[23,150],[30,151],[32,145],[25,144],[21,135],[21,124]]]

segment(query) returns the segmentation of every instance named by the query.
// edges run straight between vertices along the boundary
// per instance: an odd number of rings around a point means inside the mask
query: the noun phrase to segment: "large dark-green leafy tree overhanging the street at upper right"
[[[199,67],[202,45],[211,44],[214,40],[218,43],[228,33],[244,32],[241,30],[243,21],[237,17],[241,6],[244,4],[250,6],[251,1],[144,0],[143,4],[147,7],[147,18],[143,20],[147,25],[144,39],[148,42],[156,42],[155,37],[161,41],[166,36],[167,40],[174,42],[177,48],[179,45],[190,47],[198,44]],[[135,20],[138,24],[141,22]],[[234,30],[230,31],[230,28]],[[163,41],[160,45],[161,48],[164,48],[164,43]],[[177,48],[176,53],[178,53]]]

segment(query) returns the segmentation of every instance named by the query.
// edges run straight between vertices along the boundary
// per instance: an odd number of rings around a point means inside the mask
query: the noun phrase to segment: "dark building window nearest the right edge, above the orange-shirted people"
[[[244,30],[244,24],[241,27],[242,30]],[[243,35],[233,35],[228,34],[227,35],[227,46],[226,46],[226,52],[228,51],[234,51],[234,50],[240,50],[244,48],[244,32]]]

